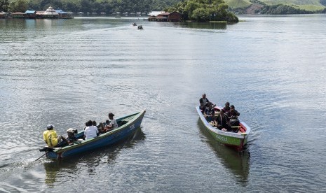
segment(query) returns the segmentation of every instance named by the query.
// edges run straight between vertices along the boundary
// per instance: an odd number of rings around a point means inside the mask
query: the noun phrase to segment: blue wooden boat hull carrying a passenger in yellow
[[[66,145],[61,148],[48,148],[46,146],[41,148],[40,151],[46,152],[46,157],[49,159],[62,159],[72,157],[95,148],[112,145],[134,134],[140,127],[145,113],[146,110],[142,110],[139,113],[119,117],[116,119],[116,122],[118,122],[118,128],[108,131],[107,133],[100,134],[95,138],[90,138],[85,141],[76,140],[74,141],[73,145]],[[80,131],[75,137],[83,138],[83,131]]]

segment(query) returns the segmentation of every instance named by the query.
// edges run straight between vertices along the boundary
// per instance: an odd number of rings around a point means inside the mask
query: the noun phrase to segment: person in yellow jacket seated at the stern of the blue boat
[[[64,136],[57,136],[57,132],[53,130],[53,125],[48,124],[46,126],[46,131],[43,132],[43,139],[49,148],[54,148],[55,146],[61,146],[64,144],[70,144]]]

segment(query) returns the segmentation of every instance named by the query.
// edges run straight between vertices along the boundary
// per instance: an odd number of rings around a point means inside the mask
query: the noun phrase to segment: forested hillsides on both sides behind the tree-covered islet
[[[0,0],[0,11],[45,10],[49,6],[74,13],[149,13],[185,0]],[[212,3],[212,0],[196,0]],[[225,0],[229,10],[246,14],[325,13],[326,0]]]

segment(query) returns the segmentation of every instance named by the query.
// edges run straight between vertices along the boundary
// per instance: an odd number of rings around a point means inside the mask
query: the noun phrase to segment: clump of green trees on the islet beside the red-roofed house
[[[238,17],[229,12],[228,8],[223,0],[188,0],[165,10],[182,13],[183,20],[238,22]]]

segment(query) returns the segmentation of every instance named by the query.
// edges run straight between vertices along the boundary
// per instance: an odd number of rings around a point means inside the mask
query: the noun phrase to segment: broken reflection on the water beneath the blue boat
[[[145,134],[142,132],[142,129],[139,128],[135,131],[133,136],[130,136],[127,140],[121,143],[113,145],[111,148],[93,150],[88,152],[86,155],[72,157],[71,159],[55,161],[47,160],[43,163],[46,171],[46,178],[44,181],[48,187],[55,187],[55,179],[57,176],[60,176],[60,171],[69,171],[69,173],[76,175],[76,173],[79,173],[78,164],[86,165],[88,173],[94,173],[95,167],[102,162],[102,157],[107,157],[107,164],[114,164],[114,160],[123,148],[134,148],[138,141],[143,141],[144,139]]]

